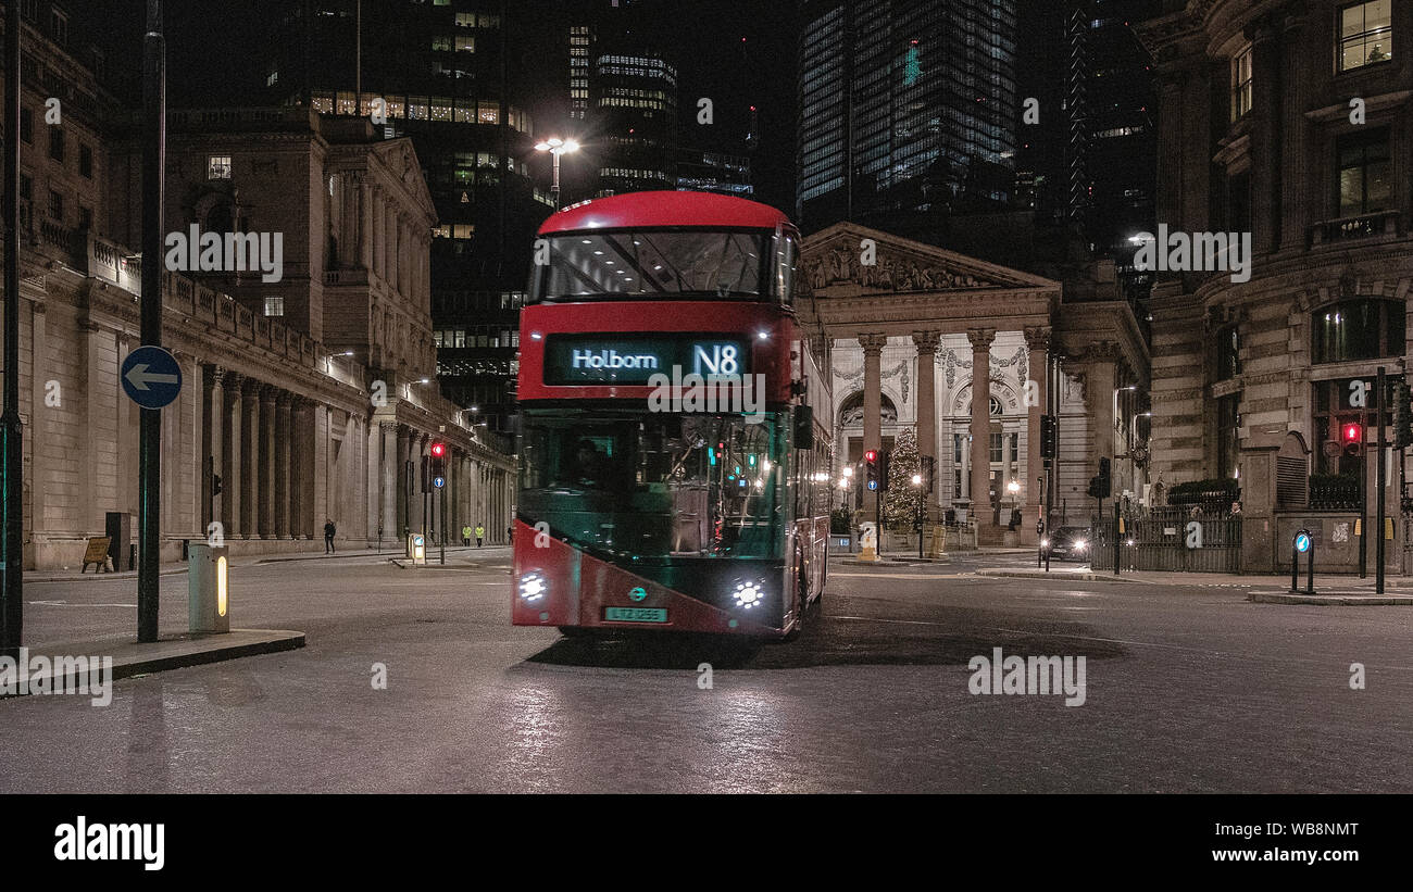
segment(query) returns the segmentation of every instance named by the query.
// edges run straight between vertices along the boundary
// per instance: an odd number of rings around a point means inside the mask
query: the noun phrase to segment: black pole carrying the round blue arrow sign
[[[143,346],[162,343],[162,199],[167,167],[167,59],[161,0],[147,0],[143,37]],[[157,641],[161,560],[162,412],[141,409],[137,457],[137,639]]]

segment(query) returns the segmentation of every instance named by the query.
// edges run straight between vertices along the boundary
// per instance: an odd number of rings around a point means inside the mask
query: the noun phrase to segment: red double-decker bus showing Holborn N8
[[[798,634],[824,589],[828,381],[779,210],[636,192],[552,215],[520,316],[512,617]]]

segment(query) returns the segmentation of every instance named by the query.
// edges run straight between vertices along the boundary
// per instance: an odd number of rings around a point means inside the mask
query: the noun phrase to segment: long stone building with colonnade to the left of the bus
[[[78,567],[109,512],[136,518],[140,144],[82,61],[25,24],[21,106],[24,560]],[[44,89],[40,89],[40,85]],[[44,120],[64,100],[62,123]],[[233,553],[400,548],[483,522],[504,542],[514,459],[435,384],[427,275],[435,212],[411,143],[304,109],[170,113],[165,229],[283,239],[261,271],[164,271],[162,560],[218,529]],[[4,370],[8,373],[10,370]],[[448,446],[428,511],[421,457]],[[216,478],[220,493],[215,493]],[[212,524],[219,524],[213,528]],[[136,529],[136,519],[134,519]]]

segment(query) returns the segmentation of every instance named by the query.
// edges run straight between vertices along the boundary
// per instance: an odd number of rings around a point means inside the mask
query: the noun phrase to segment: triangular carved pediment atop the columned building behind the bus
[[[804,285],[817,299],[834,296],[835,288],[838,296],[1060,288],[1047,278],[856,223],[808,236],[800,255]]]

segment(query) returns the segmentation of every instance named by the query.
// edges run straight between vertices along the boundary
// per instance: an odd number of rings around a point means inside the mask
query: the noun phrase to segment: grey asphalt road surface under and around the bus
[[[1413,792],[1413,608],[835,562],[742,656],[513,628],[506,550],[475,558],[239,566],[235,625],[305,649],[3,700],[0,792]],[[30,584],[30,641],[136,628],[134,589]],[[996,646],[1084,656],[1084,704],[969,693]]]

